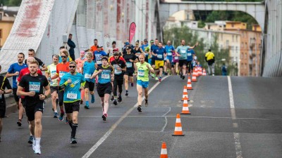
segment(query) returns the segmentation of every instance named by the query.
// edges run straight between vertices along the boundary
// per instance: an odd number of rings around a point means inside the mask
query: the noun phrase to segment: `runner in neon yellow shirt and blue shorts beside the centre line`
[[[149,96],[149,72],[154,73],[154,69],[148,62],[145,62],[145,56],[139,56],[140,62],[136,63],[137,70],[135,70],[135,74],[137,74],[137,93],[138,93],[138,112],[142,112],[142,92],[143,89],[145,91],[145,106],[148,106],[148,96]]]

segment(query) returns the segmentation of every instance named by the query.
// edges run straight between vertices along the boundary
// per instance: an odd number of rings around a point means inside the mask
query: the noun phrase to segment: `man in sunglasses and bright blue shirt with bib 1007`
[[[92,59],[92,57],[90,58]],[[65,91],[63,94],[63,103],[65,104],[68,125],[71,126],[71,143],[76,144],[75,133],[78,129],[78,112],[80,110],[80,90],[85,86],[85,78],[82,74],[75,72],[76,63],[69,63],[70,72],[61,77],[59,91]]]

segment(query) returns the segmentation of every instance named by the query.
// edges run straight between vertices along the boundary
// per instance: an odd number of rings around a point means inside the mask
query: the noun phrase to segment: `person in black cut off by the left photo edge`
[[[0,65],[0,72],[1,72],[1,65]],[[7,90],[5,90],[7,88]],[[6,101],[4,94],[12,93],[12,87],[6,79],[6,77],[0,76],[0,142],[1,142],[1,131],[3,126],[2,119],[5,117],[6,113]]]

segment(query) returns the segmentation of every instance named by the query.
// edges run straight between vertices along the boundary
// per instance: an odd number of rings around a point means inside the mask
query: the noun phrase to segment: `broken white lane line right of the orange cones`
[[[231,117],[233,119],[233,128],[237,129],[238,123],[236,122],[236,112],[235,112],[233,90],[232,90],[232,84],[231,84],[230,76],[228,76],[227,79],[228,79],[228,91],[229,91],[229,100],[230,100],[230,108],[231,108],[230,111],[231,111]],[[233,133],[233,136],[234,136],[234,140],[235,140],[236,158],[243,158],[241,143],[240,143],[240,134],[239,133]]]

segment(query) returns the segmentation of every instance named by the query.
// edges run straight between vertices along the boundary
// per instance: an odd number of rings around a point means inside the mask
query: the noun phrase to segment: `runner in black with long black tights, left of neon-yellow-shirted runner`
[[[114,53],[114,61],[111,61],[111,65],[114,67],[114,105],[121,103],[121,93],[123,92],[123,74],[126,71],[125,62],[120,60],[121,55],[118,52]],[[117,91],[118,89],[118,97]]]

